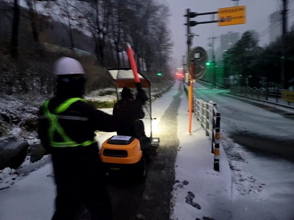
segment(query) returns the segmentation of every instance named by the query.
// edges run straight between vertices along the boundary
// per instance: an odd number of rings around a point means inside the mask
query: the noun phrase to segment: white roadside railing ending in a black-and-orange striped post
[[[204,101],[193,96],[193,112],[201,126],[205,128],[205,135],[211,138],[211,153],[214,154],[213,169],[219,171],[219,138],[220,138],[220,112],[216,103]]]

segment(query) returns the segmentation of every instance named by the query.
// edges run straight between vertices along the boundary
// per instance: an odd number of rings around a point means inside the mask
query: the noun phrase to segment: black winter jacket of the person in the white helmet
[[[48,109],[53,112],[66,99],[54,97],[48,104]],[[91,141],[95,137],[94,131],[117,131],[123,124],[129,123],[128,116],[124,114],[109,115],[100,110],[95,109],[83,101],[72,103],[67,110],[58,115],[58,123],[64,129],[65,134],[77,143]],[[44,117],[42,107],[39,110],[39,126],[38,135],[46,150],[52,150],[48,140],[49,121]],[[61,142],[58,134],[54,135],[54,141]]]

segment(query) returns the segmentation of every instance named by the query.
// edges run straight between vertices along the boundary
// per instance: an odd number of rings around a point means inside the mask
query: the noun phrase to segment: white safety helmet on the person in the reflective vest
[[[54,64],[54,74],[71,75],[71,74],[85,74],[81,63],[69,57],[61,57]]]

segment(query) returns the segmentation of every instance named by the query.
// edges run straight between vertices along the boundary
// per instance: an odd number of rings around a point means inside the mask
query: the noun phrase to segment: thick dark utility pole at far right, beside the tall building
[[[288,1],[283,1],[283,12],[282,12],[282,18],[283,18],[283,32],[282,32],[282,57],[281,57],[281,89],[285,89],[285,44],[286,44],[286,34],[287,34],[287,6]]]

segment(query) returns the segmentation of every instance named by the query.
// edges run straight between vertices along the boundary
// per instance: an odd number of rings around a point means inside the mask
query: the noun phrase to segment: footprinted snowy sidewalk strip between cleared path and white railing
[[[211,139],[205,136],[205,129],[194,113],[192,135],[189,134],[188,107],[188,98],[184,93],[178,112],[180,144],[175,164],[176,184],[171,201],[171,219],[229,219],[232,174],[226,153],[220,147],[219,171],[215,171]]]

